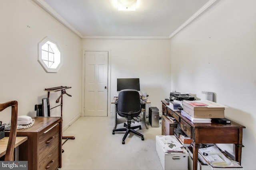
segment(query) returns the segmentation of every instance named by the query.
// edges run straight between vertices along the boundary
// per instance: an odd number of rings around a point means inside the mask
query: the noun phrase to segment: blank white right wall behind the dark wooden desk
[[[256,1],[226,0],[171,39],[172,90],[214,92],[225,117],[244,126],[242,166],[255,169]],[[179,63],[179,64],[177,64]],[[233,147],[233,145],[231,145]],[[232,147],[224,145],[232,152]]]

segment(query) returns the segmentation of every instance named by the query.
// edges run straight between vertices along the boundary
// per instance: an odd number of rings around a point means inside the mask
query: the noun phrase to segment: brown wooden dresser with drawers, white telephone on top
[[[56,170],[61,168],[62,118],[32,117],[35,123],[28,129],[20,129],[17,136],[28,140],[19,147],[19,160],[28,161],[28,170]],[[8,136],[9,132],[6,131]]]

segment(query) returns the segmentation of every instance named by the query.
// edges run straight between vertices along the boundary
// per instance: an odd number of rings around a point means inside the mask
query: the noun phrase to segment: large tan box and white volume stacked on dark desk
[[[182,105],[181,115],[194,123],[211,123],[212,118],[224,118],[226,107],[209,100],[183,100]]]

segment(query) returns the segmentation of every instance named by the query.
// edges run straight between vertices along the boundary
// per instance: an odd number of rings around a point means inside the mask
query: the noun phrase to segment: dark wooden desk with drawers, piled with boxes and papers
[[[193,123],[180,112],[172,111],[168,102],[162,100],[163,114],[174,117],[179,123],[182,131],[193,140],[193,170],[197,170],[198,146],[200,143],[233,143],[235,145],[236,161],[241,164],[242,156],[242,134],[244,126],[231,121],[231,124],[218,123]]]

